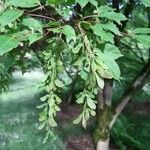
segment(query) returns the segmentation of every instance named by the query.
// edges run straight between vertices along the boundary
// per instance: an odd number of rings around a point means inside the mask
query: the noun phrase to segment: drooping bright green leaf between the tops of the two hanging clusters
[[[62,29],[62,33],[66,35],[67,41],[70,42],[71,40],[76,41],[76,33],[73,27],[70,25],[65,25]]]

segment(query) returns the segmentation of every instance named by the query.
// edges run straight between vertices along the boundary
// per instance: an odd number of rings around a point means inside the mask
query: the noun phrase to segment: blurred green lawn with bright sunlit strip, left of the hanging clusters
[[[49,139],[37,129],[40,78],[17,75],[10,90],[0,95],[0,150],[65,150],[64,141]]]

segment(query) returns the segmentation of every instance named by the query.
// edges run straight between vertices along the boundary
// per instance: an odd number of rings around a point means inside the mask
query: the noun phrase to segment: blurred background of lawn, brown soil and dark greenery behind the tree
[[[30,61],[29,61],[30,60]],[[37,129],[40,97],[45,94],[40,88],[44,73],[39,67],[40,62],[35,54],[25,57],[28,69],[22,74],[20,68],[15,68],[10,81],[9,90],[0,95],[0,149],[1,150],[93,150],[93,121],[87,130],[81,125],[73,125],[72,120],[80,113],[80,108],[72,98],[66,112],[58,114],[59,126],[51,134],[47,143],[42,144],[44,131]],[[128,83],[139,71],[140,64],[130,59],[122,58],[122,82],[115,83],[113,103],[124,92]],[[130,73],[127,73],[130,72]],[[63,75],[64,76],[64,75]],[[68,81],[68,78],[65,78]],[[74,93],[80,90],[80,80]],[[81,87],[82,88],[82,87]],[[67,91],[67,90],[66,90]],[[67,94],[66,94],[67,95]],[[67,97],[62,96],[63,100]],[[73,96],[74,97],[74,96]],[[119,150],[150,150],[150,83],[132,98],[123,114],[119,117],[112,132],[111,144]],[[76,145],[76,147],[74,146]]]

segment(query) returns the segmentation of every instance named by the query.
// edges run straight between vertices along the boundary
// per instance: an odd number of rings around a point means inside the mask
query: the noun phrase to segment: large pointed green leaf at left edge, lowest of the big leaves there
[[[19,45],[19,42],[9,36],[0,36],[0,56],[11,51]]]

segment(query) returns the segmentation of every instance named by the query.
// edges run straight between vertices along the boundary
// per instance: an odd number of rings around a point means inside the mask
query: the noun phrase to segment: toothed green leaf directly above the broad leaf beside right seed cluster
[[[100,24],[92,26],[91,29],[93,30],[94,34],[100,36],[102,40],[114,44],[114,35],[110,32],[104,31]]]

